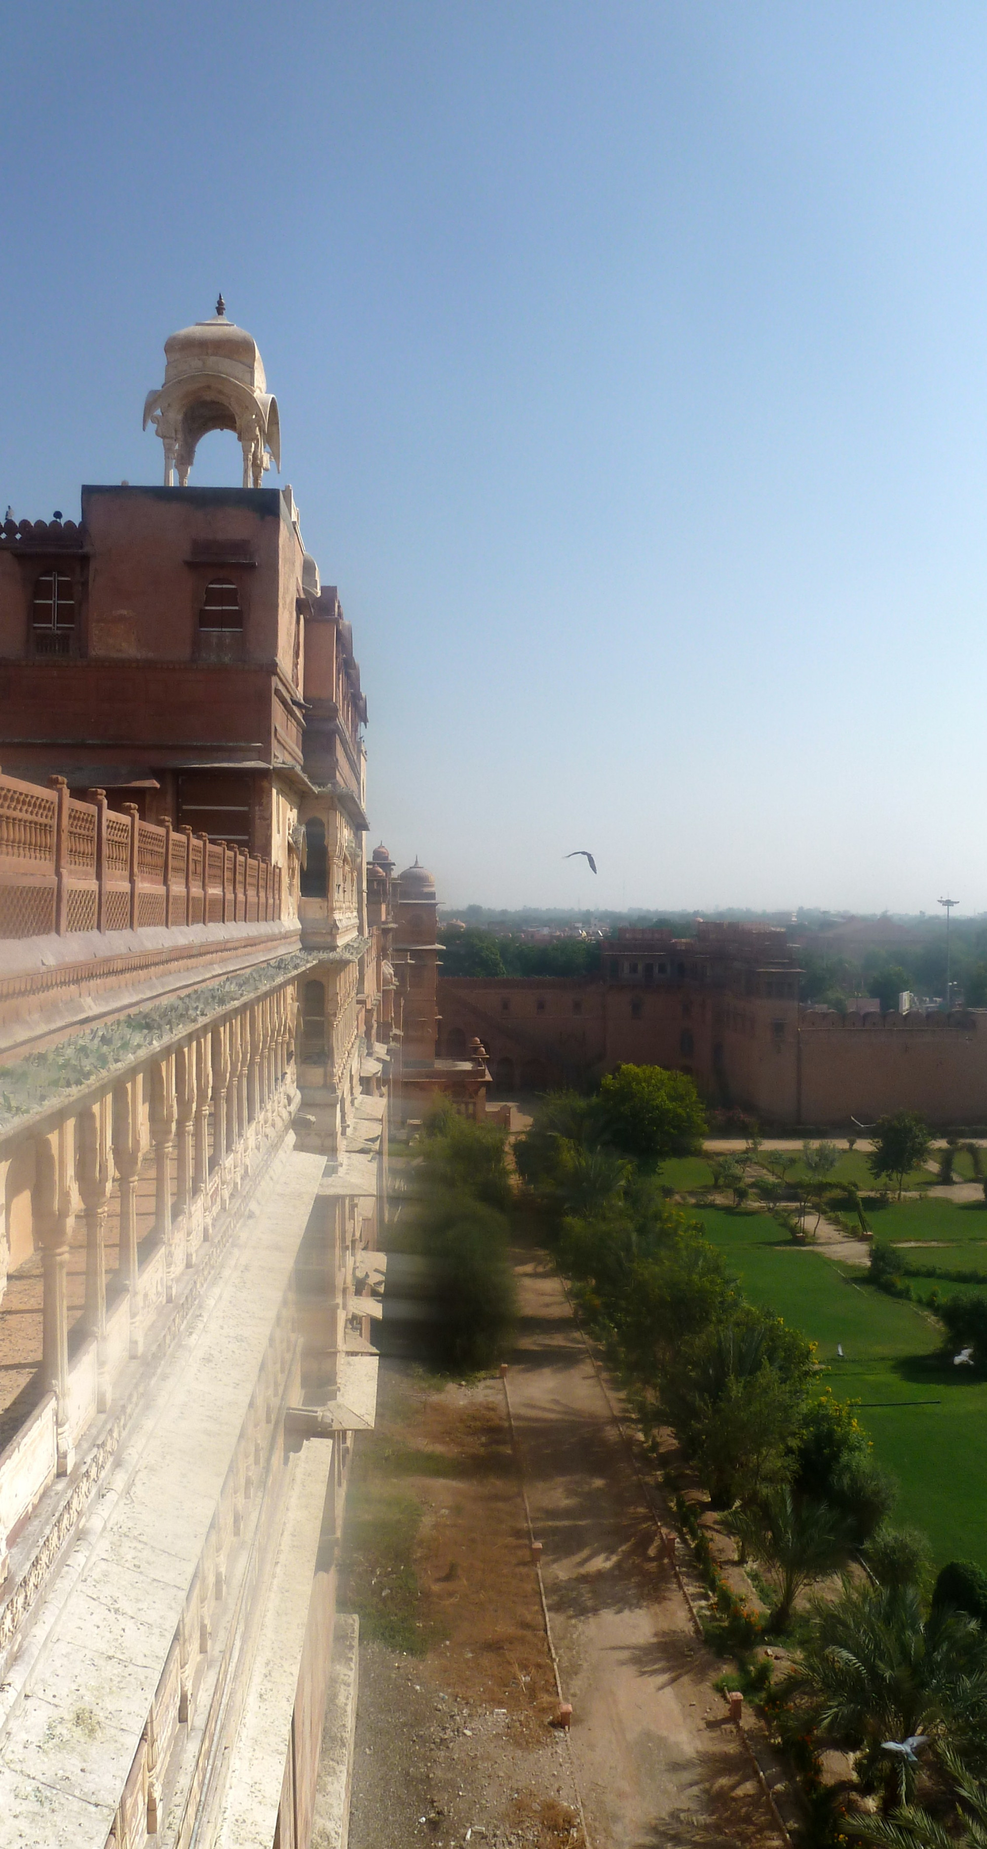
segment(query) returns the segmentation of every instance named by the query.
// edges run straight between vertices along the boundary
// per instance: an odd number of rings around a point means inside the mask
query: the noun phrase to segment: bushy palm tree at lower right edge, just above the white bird
[[[845,1579],[835,1603],[817,1605],[789,1688],[821,1733],[859,1753],[858,1777],[885,1810],[911,1803],[917,1775],[887,1740],[926,1734],[937,1757],[987,1771],[987,1633],[948,1609],[926,1618],[915,1586]]]

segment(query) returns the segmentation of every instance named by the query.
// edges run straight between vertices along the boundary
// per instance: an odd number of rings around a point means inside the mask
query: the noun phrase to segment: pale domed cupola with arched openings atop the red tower
[[[244,488],[259,488],[272,460],[281,468],[277,399],[268,392],[257,342],[225,318],[220,296],[211,322],[181,327],[164,342],[164,385],[148,392],[144,429],[164,444],[164,486],[189,483],[207,431],[235,431],[244,453]]]

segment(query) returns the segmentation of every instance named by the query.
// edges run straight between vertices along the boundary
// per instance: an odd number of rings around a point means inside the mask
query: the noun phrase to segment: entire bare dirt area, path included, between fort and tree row
[[[547,1261],[521,1259],[510,1368],[573,1731],[556,1688],[499,1379],[381,1366],[340,1607],[360,1612],[353,1849],[776,1849],[750,1760],[658,1559],[654,1520]],[[577,1790],[579,1788],[579,1790]]]

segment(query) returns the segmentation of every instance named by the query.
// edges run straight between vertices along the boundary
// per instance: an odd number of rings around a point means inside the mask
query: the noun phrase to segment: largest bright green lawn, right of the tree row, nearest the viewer
[[[911,1230],[915,1215],[930,1207],[952,1204],[909,1202],[885,1211],[913,1215],[904,1237],[933,1237]],[[939,1363],[939,1329],[924,1311],[872,1291],[854,1267],[795,1246],[769,1215],[699,1207],[695,1217],[747,1296],[819,1342],[826,1385],[861,1402],[876,1455],[900,1483],[898,1520],[926,1531],[937,1562],[974,1559],[987,1566],[987,1381]],[[987,1235],[987,1215],[981,1226]],[[948,1263],[944,1254],[941,1263]]]

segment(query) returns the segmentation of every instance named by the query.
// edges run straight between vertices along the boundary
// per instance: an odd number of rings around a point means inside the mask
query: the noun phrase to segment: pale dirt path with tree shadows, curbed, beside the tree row
[[[593,1849],[780,1843],[547,1261],[519,1265],[510,1403]]]

